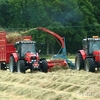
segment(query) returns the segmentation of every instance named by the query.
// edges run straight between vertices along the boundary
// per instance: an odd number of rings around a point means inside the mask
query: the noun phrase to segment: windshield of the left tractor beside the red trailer
[[[21,51],[22,51],[22,56],[24,56],[26,52],[36,53],[35,45],[32,43],[31,44],[24,43],[21,46]]]

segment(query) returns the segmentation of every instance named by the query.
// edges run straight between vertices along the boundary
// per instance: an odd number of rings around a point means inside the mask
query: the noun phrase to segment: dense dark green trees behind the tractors
[[[100,0],[0,0],[0,28],[19,32],[46,27],[66,39],[75,53],[82,39],[100,33]],[[42,53],[53,54],[60,46],[42,31],[27,31]]]

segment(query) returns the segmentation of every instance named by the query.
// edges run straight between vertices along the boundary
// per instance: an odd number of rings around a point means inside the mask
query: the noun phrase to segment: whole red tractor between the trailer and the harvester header
[[[19,41],[15,43],[16,52],[10,55],[9,69],[10,72],[25,73],[27,69],[31,72],[39,70],[48,71],[46,59],[40,59],[35,48],[35,41]]]

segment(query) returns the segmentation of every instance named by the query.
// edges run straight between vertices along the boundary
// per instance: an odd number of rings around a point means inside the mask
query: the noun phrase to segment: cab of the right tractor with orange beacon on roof
[[[100,38],[83,39],[83,50],[87,55],[92,55],[95,50],[100,50]]]

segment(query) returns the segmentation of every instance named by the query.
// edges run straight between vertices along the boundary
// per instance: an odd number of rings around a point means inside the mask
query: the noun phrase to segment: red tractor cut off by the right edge
[[[100,68],[100,38],[85,38],[82,43],[83,50],[78,50],[75,58],[76,70],[95,72],[95,68]]]

